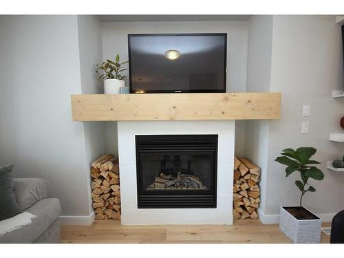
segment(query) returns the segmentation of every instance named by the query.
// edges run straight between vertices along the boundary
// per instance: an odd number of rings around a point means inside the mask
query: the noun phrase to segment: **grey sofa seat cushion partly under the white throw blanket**
[[[0,237],[0,243],[32,243],[61,215],[58,199],[43,199],[26,210],[36,215],[32,223]]]

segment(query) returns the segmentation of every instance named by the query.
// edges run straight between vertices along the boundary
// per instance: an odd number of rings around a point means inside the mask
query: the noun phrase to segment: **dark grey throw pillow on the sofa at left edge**
[[[13,165],[0,167],[0,220],[21,213],[21,207],[17,204],[13,191],[12,169]]]

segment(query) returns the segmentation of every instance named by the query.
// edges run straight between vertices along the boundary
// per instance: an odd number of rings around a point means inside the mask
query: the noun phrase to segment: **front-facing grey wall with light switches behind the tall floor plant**
[[[285,166],[273,160],[286,147],[308,146],[318,149],[314,159],[322,163],[325,179],[310,180],[316,192],[305,195],[305,206],[319,214],[343,210],[344,175],[325,166],[344,155],[343,143],[328,140],[330,133],[343,132],[344,99],[331,97],[343,87],[341,26],[335,17],[274,16],[270,90],[282,93],[282,103],[281,120],[270,121],[266,213],[277,214],[279,205],[299,200],[297,173],[285,178]],[[302,117],[302,105],[310,105],[309,118]],[[310,133],[301,134],[301,122],[310,122]]]

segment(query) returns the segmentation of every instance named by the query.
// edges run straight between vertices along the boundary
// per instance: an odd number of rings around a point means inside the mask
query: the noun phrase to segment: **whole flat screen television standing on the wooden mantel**
[[[226,92],[227,34],[128,34],[131,93]]]

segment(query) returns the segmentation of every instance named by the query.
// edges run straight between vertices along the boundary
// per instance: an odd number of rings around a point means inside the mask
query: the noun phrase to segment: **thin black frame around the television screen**
[[[129,89],[131,94],[139,94],[131,89],[131,47],[130,39],[133,36],[224,36],[224,84],[222,89],[188,89],[188,90],[145,90],[142,93],[224,93],[226,92],[226,68],[227,68],[227,33],[164,33],[164,34],[128,34],[128,54],[129,54]]]

